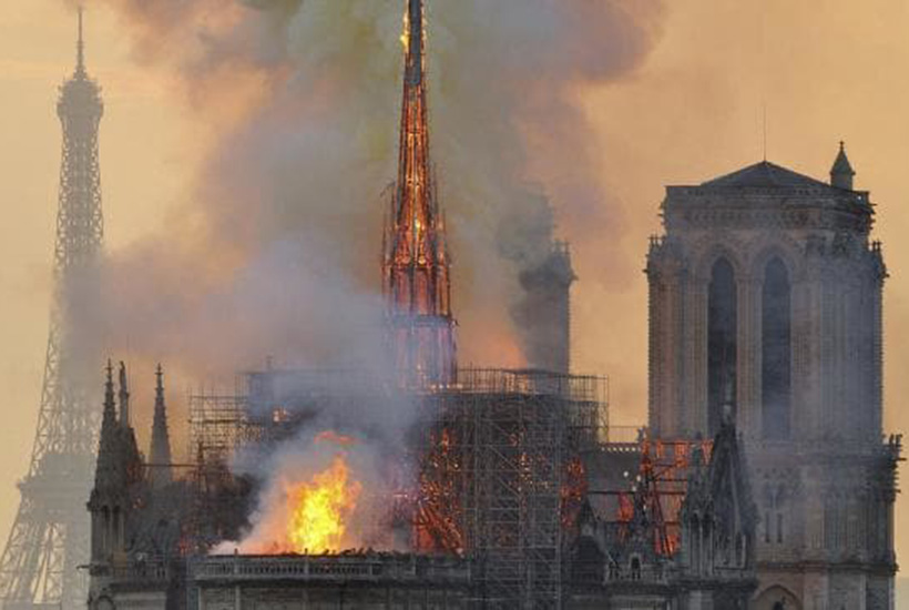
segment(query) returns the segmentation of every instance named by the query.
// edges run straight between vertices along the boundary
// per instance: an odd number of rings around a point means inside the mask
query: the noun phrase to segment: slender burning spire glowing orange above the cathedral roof
[[[409,0],[398,182],[385,227],[382,292],[388,347],[404,386],[455,380],[445,223],[429,159],[422,0]]]

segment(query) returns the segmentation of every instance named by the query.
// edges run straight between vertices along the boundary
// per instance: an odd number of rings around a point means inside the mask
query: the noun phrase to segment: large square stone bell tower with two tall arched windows
[[[647,255],[650,425],[742,430],[754,607],[893,607],[900,441],[882,438],[881,248],[840,148],[827,184],[762,162],[668,186]]]

